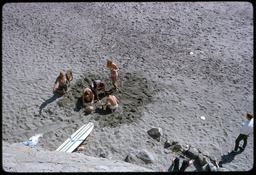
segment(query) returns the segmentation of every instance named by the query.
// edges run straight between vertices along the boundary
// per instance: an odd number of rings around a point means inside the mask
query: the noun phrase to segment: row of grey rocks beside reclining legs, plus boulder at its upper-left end
[[[162,128],[152,128],[150,130],[148,130],[148,134],[151,135],[155,135],[158,137],[161,137],[163,135],[162,133]],[[176,150],[183,149],[182,146],[182,141],[180,140],[175,140],[175,141],[171,141],[171,140],[167,140],[165,142],[165,149],[164,152],[165,153],[171,153],[172,151],[170,151],[169,149],[166,149],[167,147],[173,146],[173,148],[176,148]],[[197,148],[191,148],[191,146],[186,146],[183,150],[182,150],[183,155],[188,153],[191,156],[198,158],[200,164],[202,165],[202,171],[229,171],[226,168],[222,168],[219,167],[219,165],[217,164],[217,159],[214,156],[211,156],[209,154],[208,151],[200,151]]]

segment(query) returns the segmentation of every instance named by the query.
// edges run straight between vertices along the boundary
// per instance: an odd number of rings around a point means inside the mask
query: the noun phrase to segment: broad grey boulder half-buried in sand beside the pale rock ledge
[[[152,156],[147,150],[137,150],[128,153],[127,162],[134,163],[136,159],[141,159],[146,164],[154,163],[154,156]]]

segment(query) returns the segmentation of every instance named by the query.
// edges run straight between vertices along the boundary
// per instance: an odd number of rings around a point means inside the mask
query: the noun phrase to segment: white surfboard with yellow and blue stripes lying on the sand
[[[76,149],[91,133],[93,126],[93,123],[87,123],[86,125],[79,128],[64,143],[62,143],[60,147],[56,149],[56,151],[67,153],[74,151],[74,149]]]

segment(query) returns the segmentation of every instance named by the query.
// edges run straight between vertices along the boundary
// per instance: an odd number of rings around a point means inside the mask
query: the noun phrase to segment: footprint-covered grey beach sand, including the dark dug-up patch
[[[54,151],[92,122],[85,155],[106,151],[108,159],[124,161],[146,149],[155,161],[138,165],[161,171],[180,154],[164,153],[164,142],[179,139],[230,171],[252,169],[253,133],[243,152],[228,155],[246,113],[253,113],[249,2],[12,3],[2,11],[3,141],[44,133],[36,147]],[[108,59],[120,69],[118,92],[102,66]],[[68,69],[71,87],[53,93],[59,72]],[[80,98],[94,80],[119,100],[115,113],[97,100],[85,112]],[[162,128],[161,139],[148,135],[153,127]],[[199,161],[186,171],[201,171]]]

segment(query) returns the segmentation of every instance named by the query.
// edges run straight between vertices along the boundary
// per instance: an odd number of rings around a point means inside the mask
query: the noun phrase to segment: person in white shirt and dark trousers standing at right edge
[[[253,131],[253,115],[251,113],[247,113],[246,118],[248,119],[241,128],[239,136],[236,138],[236,145],[233,151],[229,151],[229,154],[236,154],[237,149],[240,148],[242,150],[245,149],[247,145],[247,138],[249,134]],[[239,145],[239,142],[244,140],[243,147]]]

